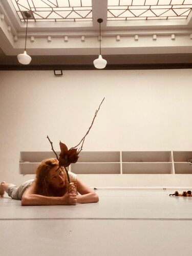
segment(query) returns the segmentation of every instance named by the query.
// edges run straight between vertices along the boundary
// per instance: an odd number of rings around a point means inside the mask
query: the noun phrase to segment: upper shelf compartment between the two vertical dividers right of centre
[[[170,151],[122,151],[122,162],[172,162]]]

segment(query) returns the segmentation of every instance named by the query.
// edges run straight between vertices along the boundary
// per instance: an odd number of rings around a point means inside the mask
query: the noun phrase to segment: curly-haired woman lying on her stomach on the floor
[[[70,184],[63,167],[58,166],[56,158],[43,160],[37,167],[35,180],[24,182],[19,187],[3,181],[0,196],[4,193],[22,205],[76,205],[76,203],[95,203],[97,194],[69,172]]]

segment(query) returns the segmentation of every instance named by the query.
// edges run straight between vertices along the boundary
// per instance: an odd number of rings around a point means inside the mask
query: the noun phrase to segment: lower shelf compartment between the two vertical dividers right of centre
[[[122,163],[122,174],[173,174],[172,163]]]

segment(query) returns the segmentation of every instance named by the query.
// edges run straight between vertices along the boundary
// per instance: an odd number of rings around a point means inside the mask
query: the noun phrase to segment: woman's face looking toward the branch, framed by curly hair
[[[49,171],[48,182],[55,188],[65,187],[65,175],[61,168],[58,165],[54,166]]]

